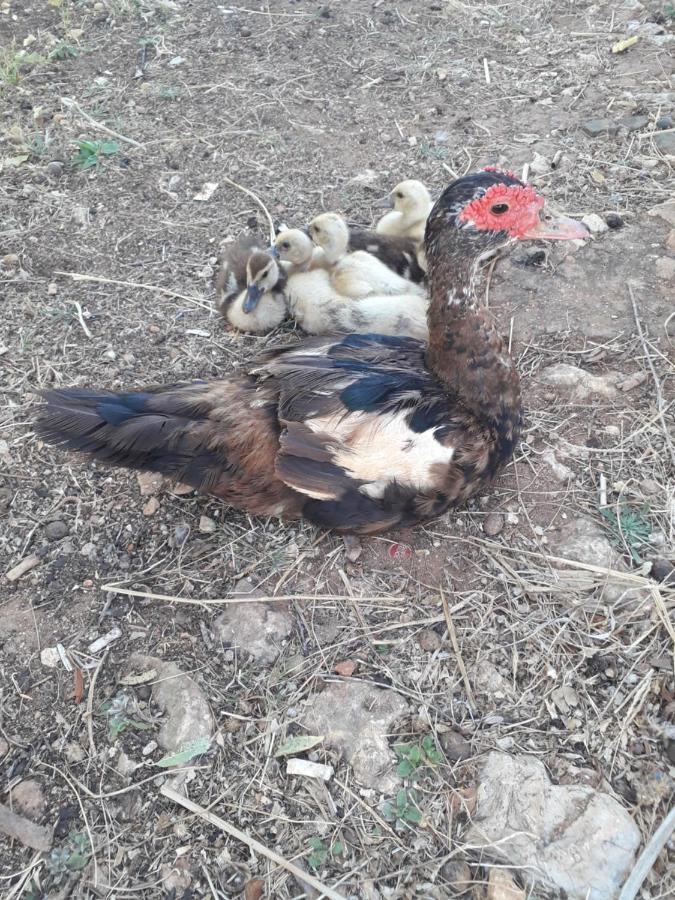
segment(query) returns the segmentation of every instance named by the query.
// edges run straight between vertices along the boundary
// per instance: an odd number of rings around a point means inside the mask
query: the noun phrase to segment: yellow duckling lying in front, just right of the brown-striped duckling
[[[288,311],[308,334],[376,332],[426,340],[428,300],[425,293],[413,292],[417,285],[405,282],[407,294],[346,297],[336,290],[330,272],[309,268],[312,242],[297,228],[277,235],[272,252],[293,263],[286,282]]]

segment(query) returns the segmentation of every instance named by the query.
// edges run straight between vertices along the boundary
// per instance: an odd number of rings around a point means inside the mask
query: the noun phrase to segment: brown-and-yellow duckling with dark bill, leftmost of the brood
[[[237,331],[273,331],[288,315],[283,267],[270,253],[254,249],[246,259],[243,286],[235,271],[223,265],[218,273],[218,311]]]

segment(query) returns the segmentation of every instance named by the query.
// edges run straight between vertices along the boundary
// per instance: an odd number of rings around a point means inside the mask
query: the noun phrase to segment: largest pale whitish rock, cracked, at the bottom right
[[[482,846],[484,858],[518,867],[533,887],[566,891],[570,900],[612,900],[633,866],[640,831],[608,794],[552,785],[535,757],[495,751],[466,841]]]

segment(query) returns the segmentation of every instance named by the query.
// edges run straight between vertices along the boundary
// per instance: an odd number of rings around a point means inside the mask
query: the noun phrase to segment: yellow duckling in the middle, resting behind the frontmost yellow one
[[[419,284],[402,278],[372,253],[348,253],[349,228],[337,213],[322,213],[309,224],[309,236],[324,252],[331,266],[331,283],[344,297],[359,299],[369,294],[414,294],[425,296]]]

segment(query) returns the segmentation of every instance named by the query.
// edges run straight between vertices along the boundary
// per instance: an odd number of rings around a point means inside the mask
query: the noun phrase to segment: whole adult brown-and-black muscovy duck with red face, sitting
[[[584,237],[514,175],[453,182],[427,224],[429,344],[359,334],[280,347],[247,373],[116,394],[46,395],[37,430],[102,462],[172,476],[250,513],[373,534],[437,516],[508,461],[520,383],[474,283],[515,240]]]

